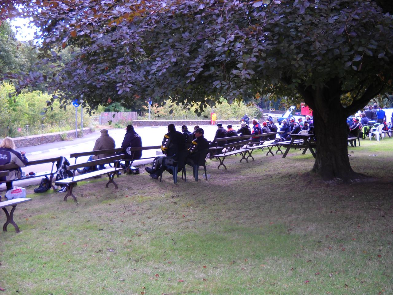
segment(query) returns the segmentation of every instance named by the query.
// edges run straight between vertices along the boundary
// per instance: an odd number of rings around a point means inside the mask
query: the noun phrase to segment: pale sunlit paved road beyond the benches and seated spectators
[[[214,138],[215,132],[217,130],[216,126],[204,125],[200,126],[205,131],[205,137],[208,140],[212,140]],[[226,127],[226,126],[224,126]],[[234,129],[239,129],[239,125],[234,125]],[[194,126],[189,126],[189,130],[192,131]],[[181,126],[176,126],[176,130],[181,131]],[[161,145],[162,138],[167,133],[167,127],[158,126],[158,127],[136,127],[135,131],[141,136],[143,146],[159,146]],[[75,138],[74,140],[67,140],[62,142],[52,142],[49,144],[41,144],[39,146],[31,146],[31,147],[19,147],[18,150],[26,151],[26,157],[29,161],[39,160],[39,159],[48,159],[59,156],[66,157],[71,164],[74,163],[74,159],[70,159],[71,153],[79,153],[83,151],[92,151],[95,140],[101,135],[99,130],[86,135],[81,138]],[[112,136],[116,142],[116,147],[121,146],[121,142],[123,142],[123,138],[125,135],[124,129],[110,129],[109,135]],[[156,152],[159,150],[148,150],[143,151],[142,157],[153,157],[156,155]],[[87,161],[88,157],[79,157],[77,159],[77,163]],[[152,160],[136,160],[134,162],[135,165],[146,164],[152,162]],[[50,171],[51,164],[41,164],[38,166],[28,166],[27,168],[22,168],[22,171],[26,172],[42,172],[42,171]],[[27,179],[23,181],[17,181],[14,185],[17,186],[27,186],[30,184],[40,183],[39,178]],[[1,184],[1,190],[5,190],[5,184]]]

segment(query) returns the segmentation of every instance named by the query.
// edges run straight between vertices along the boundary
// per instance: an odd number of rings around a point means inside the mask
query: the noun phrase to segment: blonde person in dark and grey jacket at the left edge
[[[26,152],[21,151],[20,153],[15,151],[15,143],[9,136],[3,139],[0,144],[0,165],[6,164],[17,164],[19,167],[25,167],[28,164],[26,158]],[[22,170],[20,168],[9,169],[8,176],[0,178],[2,181],[13,180],[22,176]],[[12,181],[6,183],[7,190],[12,189]]]

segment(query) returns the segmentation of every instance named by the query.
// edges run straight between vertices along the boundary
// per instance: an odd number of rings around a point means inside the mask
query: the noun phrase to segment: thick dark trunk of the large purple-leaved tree
[[[346,182],[363,178],[364,175],[354,172],[349,163],[347,111],[342,107],[340,97],[331,95],[331,89],[317,89],[312,93],[312,103],[308,103],[312,105],[317,141],[313,171],[325,181],[341,179]]]

